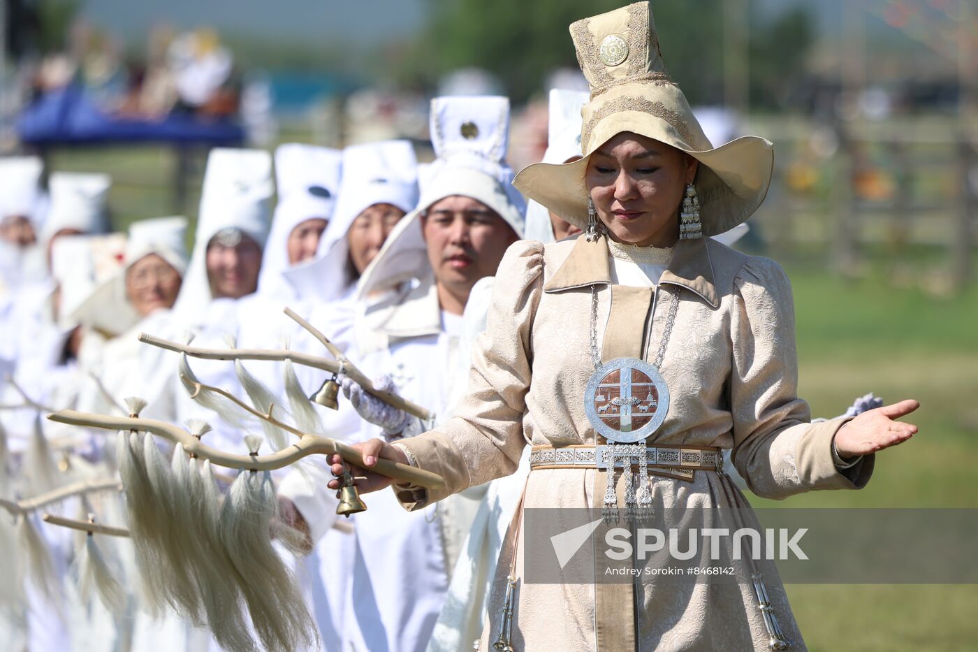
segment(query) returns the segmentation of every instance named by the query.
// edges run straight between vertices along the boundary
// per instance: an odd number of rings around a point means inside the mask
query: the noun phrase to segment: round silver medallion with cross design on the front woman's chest
[[[588,381],[585,413],[608,442],[645,440],[669,411],[669,388],[651,364],[619,357],[602,364]]]

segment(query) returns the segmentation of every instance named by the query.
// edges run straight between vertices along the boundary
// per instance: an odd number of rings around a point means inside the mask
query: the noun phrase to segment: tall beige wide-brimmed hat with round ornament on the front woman
[[[669,77],[648,2],[637,2],[570,25],[578,62],[591,86],[582,109],[584,158],[534,163],[513,184],[527,197],[582,229],[588,226],[585,172],[591,155],[622,132],[686,152],[700,164],[693,181],[702,232],[712,236],[743,222],[764,201],[774,146],[757,136],[713,147]]]

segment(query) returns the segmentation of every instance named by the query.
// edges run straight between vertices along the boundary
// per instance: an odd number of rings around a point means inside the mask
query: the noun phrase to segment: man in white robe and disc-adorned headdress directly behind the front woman
[[[437,160],[418,208],[397,225],[358,285],[356,360],[382,387],[440,418],[451,413],[462,312],[472,286],[492,275],[523,231],[524,203],[504,163],[510,105],[502,97],[436,98],[431,138]],[[400,433],[401,423],[349,378],[344,394],[364,416],[360,438]],[[421,424],[408,431],[421,432]],[[431,635],[449,574],[481,492],[437,510],[406,514],[376,494],[353,517],[355,556],[343,649],[421,648]]]

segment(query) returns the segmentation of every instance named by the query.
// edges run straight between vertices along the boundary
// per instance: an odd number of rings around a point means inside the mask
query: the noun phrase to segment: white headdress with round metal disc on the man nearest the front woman
[[[512,170],[505,163],[509,98],[435,98],[430,131],[437,159],[425,174],[421,201],[398,223],[364,272],[357,290],[361,297],[431,273],[419,217],[446,197],[462,195],[481,202],[523,236],[526,205],[512,187]]]

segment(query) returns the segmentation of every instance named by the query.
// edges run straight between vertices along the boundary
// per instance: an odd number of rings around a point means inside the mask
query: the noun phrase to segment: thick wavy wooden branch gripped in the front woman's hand
[[[146,431],[170,442],[182,443],[188,454],[209,459],[213,464],[232,469],[274,471],[289,466],[289,464],[307,455],[317,453],[324,455],[338,453],[346,462],[364,466],[363,456],[352,446],[305,433],[302,434],[298,442],[269,455],[239,455],[208,446],[182,428],[154,419],[113,417],[106,414],[88,414],[75,410],[61,410],[48,415],[48,418],[58,423],[86,428]],[[393,478],[402,483],[419,485],[427,489],[442,489],[445,486],[445,480],[437,474],[387,459],[378,459],[374,470],[388,478]]]

